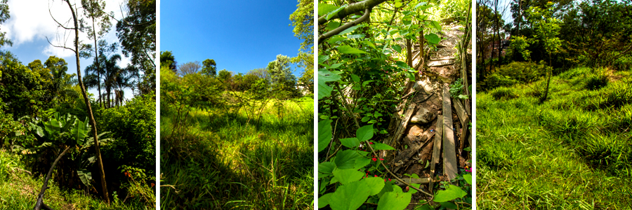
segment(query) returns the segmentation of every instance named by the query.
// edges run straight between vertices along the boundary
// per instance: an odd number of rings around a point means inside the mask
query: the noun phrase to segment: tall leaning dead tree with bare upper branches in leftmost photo
[[[107,204],[110,204],[110,194],[107,192],[107,185],[105,183],[105,172],[103,170],[103,160],[101,158],[101,151],[99,148],[100,146],[99,146],[99,139],[98,139],[98,134],[97,134],[96,121],[94,120],[94,116],[92,113],[90,99],[88,99],[88,94],[86,94],[86,87],[84,86],[84,82],[81,80],[81,64],[79,62],[79,52],[80,52],[79,51],[79,20],[77,20],[77,6],[72,5],[70,3],[70,0],[62,0],[62,1],[68,5],[68,8],[70,8],[70,13],[72,14],[73,25],[72,26],[62,25],[59,21],[55,19],[55,17],[53,17],[52,13],[51,13],[51,18],[53,18],[53,20],[57,22],[58,27],[61,27],[62,29],[74,31],[74,41],[73,41],[74,48],[68,48],[66,47],[65,44],[53,45],[53,43],[51,43],[51,41],[48,40],[48,37],[46,37],[46,40],[48,41],[48,43],[50,43],[51,45],[55,47],[65,48],[67,50],[71,50],[72,52],[74,52],[75,59],[77,60],[77,81],[79,82],[79,87],[81,88],[81,94],[84,96],[84,102],[86,103],[86,107],[88,108],[87,113],[88,113],[88,119],[90,120],[90,125],[92,125],[92,136],[94,138],[94,150],[95,150],[96,158],[98,162],[98,170],[99,170],[99,175],[101,179],[101,187],[103,188],[103,199],[105,200]]]

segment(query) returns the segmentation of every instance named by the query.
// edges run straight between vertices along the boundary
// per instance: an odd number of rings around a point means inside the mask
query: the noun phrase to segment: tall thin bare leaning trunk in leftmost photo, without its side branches
[[[88,99],[88,95],[86,94],[86,87],[84,86],[84,82],[81,80],[81,65],[79,64],[79,23],[77,22],[77,14],[74,13],[74,8],[70,4],[70,0],[64,0],[68,4],[70,8],[70,12],[72,13],[72,20],[74,21],[74,55],[75,59],[77,59],[77,80],[79,80],[79,87],[81,87],[81,94],[84,95],[84,102],[86,103],[86,107],[88,107],[88,119],[90,119],[90,125],[92,126],[92,136],[94,138],[94,150],[96,152],[96,158],[99,165],[99,174],[101,179],[101,187],[103,188],[103,199],[107,204],[110,204],[110,195],[107,193],[107,185],[105,184],[105,172],[103,171],[103,160],[101,160],[101,151],[99,149],[99,139],[97,135],[97,127],[96,121],[94,120],[94,116],[92,114],[92,107],[90,105],[90,100]]]

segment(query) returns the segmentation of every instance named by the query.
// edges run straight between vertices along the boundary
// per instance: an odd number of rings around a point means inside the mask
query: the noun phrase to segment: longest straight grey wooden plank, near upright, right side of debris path
[[[443,86],[443,172],[449,180],[456,177],[456,148],[452,130],[452,106],[447,85]]]

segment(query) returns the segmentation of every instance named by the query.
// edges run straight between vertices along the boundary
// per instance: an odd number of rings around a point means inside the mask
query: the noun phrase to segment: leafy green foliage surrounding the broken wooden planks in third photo
[[[430,56],[425,53],[440,48],[437,44],[445,35],[440,21],[457,21],[468,34],[471,2],[346,3],[319,1],[318,207],[469,208],[471,192],[464,190],[470,189],[470,174],[463,171],[457,178],[462,182],[447,181],[445,186],[437,185],[445,190],[427,193],[421,190],[426,184],[407,184],[406,177],[390,172],[383,154],[395,148],[383,144],[383,139],[397,135],[389,127],[397,118],[397,106],[414,89],[412,84],[421,80],[421,73],[430,70]],[[456,46],[460,58],[468,55],[467,37],[459,37],[463,38]],[[417,45],[421,50],[414,53]],[[456,99],[469,97],[468,77],[464,77],[452,85]],[[415,173],[407,177],[421,176]],[[430,176],[433,179],[434,174]]]

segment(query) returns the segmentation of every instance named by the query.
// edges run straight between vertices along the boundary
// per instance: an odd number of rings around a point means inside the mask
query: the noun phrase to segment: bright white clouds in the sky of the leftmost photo
[[[81,6],[81,2],[77,6]],[[71,3],[74,1],[71,0]],[[114,11],[114,16],[117,19],[122,17],[121,5],[122,0],[106,0],[107,11]],[[60,0],[48,0],[34,3],[32,1],[8,1],[9,11],[11,18],[9,18],[4,24],[0,25],[2,31],[6,31],[8,38],[13,41],[13,47],[19,47],[23,43],[29,43],[33,41],[46,41],[48,38],[51,43],[55,45],[68,45],[72,46],[72,40],[74,39],[74,31],[65,30],[58,27],[58,20],[61,24],[70,26],[72,25],[72,15],[68,5]],[[49,12],[50,8],[50,12]],[[55,17],[55,20],[51,18],[51,14]],[[79,8],[79,16],[82,16],[81,8]],[[116,21],[112,20],[112,29],[110,33],[106,35],[108,43],[114,43],[117,41],[116,37]],[[81,41],[88,41],[86,34],[79,34]],[[45,55],[55,55],[58,57],[70,57],[74,55],[71,50],[65,50],[62,48],[55,48],[48,45],[42,50]]]

